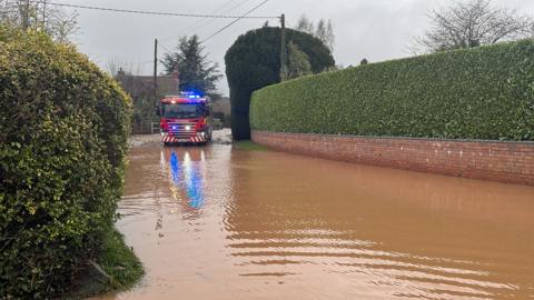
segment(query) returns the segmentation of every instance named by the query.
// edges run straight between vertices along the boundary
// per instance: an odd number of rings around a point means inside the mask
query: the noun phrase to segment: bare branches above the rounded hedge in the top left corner
[[[68,42],[78,31],[77,19],[78,13],[67,13],[49,0],[0,0],[0,23],[44,31],[59,42]]]

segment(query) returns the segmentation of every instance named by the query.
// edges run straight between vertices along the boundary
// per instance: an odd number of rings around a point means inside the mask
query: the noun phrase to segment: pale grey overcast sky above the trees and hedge
[[[264,0],[58,0],[82,6],[177,13],[215,13],[240,16]],[[463,1],[463,0],[459,0]],[[337,64],[358,64],[363,58],[372,62],[411,56],[409,41],[428,27],[427,12],[451,3],[452,0],[270,0],[251,16],[286,14],[288,27],[295,26],[305,13],[310,20],[330,19],[334,23]],[[534,0],[494,0],[497,6],[534,14]],[[66,9],[70,10],[70,9]],[[162,47],[174,49],[180,36],[211,36],[231,20],[209,20],[179,17],[138,16],[78,9],[80,32],[75,37],[81,52],[101,68],[110,59],[130,63],[140,74],[150,74],[154,39]],[[240,20],[209,40],[205,47],[208,58],[219,63],[224,73],[226,50],[239,34],[263,26],[265,20]],[[269,23],[277,24],[277,20]],[[160,53],[165,52],[160,48]],[[161,68],[161,67],[160,67]],[[219,91],[228,93],[226,78]]]

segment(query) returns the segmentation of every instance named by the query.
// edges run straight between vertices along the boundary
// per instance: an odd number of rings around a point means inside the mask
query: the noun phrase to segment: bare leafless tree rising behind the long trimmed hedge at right
[[[494,44],[528,37],[532,20],[491,0],[454,2],[429,13],[433,27],[415,39],[415,52],[435,52]]]

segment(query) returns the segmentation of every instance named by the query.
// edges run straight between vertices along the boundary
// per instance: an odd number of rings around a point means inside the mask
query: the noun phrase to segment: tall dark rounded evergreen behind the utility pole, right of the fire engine
[[[330,50],[319,39],[287,29],[286,40],[306,53],[314,73],[334,66]],[[240,36],[226,52],[225,61],[230,87],[231,132],[235,139],[247,140],[253,91],[280,82],[280,29],[264,27]]]

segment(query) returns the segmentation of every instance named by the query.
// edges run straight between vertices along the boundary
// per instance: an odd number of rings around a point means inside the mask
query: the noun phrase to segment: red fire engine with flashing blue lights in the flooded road
[[[210,108],[209,98],[195,92],[181,92],[180,96],[161,99],[157,112],[164,144],[210,142]]]

